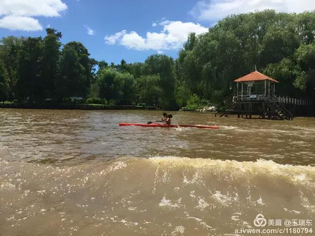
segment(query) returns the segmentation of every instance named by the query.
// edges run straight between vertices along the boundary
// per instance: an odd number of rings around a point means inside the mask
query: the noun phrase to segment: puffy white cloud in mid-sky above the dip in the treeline
[[[187,40],[189,32],[196,34],[205,33],[207,28],[200,24],[181,21],[162,21],[160,32],[147,32],[146,37],[137,32],[122,30],[112,35],[105,36],[106,44],[120,44],[128,49],[135,50],[177,50]]]

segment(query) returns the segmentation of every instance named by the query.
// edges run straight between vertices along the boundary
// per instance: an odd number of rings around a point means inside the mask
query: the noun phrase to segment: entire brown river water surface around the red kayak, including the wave
[[[0,109],[0,236],[232,235],[259,213],[259,229],[315,225],[315,118],[118,126],[161,113]]]

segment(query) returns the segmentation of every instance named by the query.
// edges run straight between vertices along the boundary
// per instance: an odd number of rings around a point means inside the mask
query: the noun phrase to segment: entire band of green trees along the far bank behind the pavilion
[[[176,60],[152,55],[132,64],[97,62],[80,42],[62,45],[60,32],[46,31],[45,38],[1,39],[1,101],[220,106],[234,92],[232,81],[255,66],[280,81],[279,95],[315,99],[315,12],[231,15],[207,33],[190,33]]]

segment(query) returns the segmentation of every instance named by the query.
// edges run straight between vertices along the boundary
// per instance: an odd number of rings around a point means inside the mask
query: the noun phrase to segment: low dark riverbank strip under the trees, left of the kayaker
[[[102,104],[80,104],[80,103],[59,103],[59,104],[21,104],[1,103],[0,108],[14,109],[57,109],[57,110],[159,110],[153,106],[132,106],[132,105],[102,105]]]

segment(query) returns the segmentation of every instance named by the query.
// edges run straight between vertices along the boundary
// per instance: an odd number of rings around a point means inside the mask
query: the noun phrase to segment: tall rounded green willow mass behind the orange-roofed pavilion
[[[190,34],[176,59],[176,101],[189,90],[200,99],[222,103],[238,77],[258,70],[281,83],[277,93],[313,97],[315,87],[315,12],[265,10],[230,15],[207,33]],[[183,95],[179,95],[180,93]],[[185,95],[184,95],[185,94]]]

